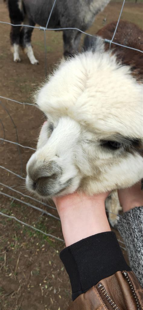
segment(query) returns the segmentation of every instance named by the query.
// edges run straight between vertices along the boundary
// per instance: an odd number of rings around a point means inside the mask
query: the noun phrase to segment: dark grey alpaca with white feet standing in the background
[[[48,28],[78,28],[85,31],[95,16],[110,0],[57,0]],[[7,0],[11,24],[39,24],[46,27],[54,0]],[[38,64],[31,46],[31,27],[11,26],[11,45],[15,62],[20,61],[19,46],[27,54],[31,64]],[[81,33],[78,30],[63,30],[64,56],[78,51]]]

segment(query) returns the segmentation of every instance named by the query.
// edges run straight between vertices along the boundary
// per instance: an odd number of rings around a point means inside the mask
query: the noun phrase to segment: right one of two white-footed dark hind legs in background
[[[33,21],[24,20],[24,24],[29,26],[35,26]],[[33,28],[31,27],[23,27],[20,34],[20,46],[24,50],[24,53],[27,54],[31,64],[38,64],[39,61],[35,58],[33,53],[33,48],[31,46],[31,36],[32,36]]]

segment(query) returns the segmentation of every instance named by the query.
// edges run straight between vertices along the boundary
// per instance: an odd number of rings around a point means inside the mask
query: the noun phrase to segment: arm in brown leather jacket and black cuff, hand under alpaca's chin
[[[106,309],[104,301],[106,297],[102,294],[102,286],[98,287],[99,283],[104,285],[111,296],[107,302],[108,307],[114,297],[114,301],[117,300],[118,307],[121,308],[121,295],[127,293],[126,289],[129,299],[131,297],[130,287],[126,286],[128,281],[122,271],[126,270],[130,273],[130,277],[134,275],[124,260],[115,233],[111,232],[108,224],[105,213],[105,199],[108,194],[87,197],[84,194],[74,193],[54,199],[67,246],[60,253],[60,257],[72,285],[74,301],[69,308],[71,310]],[[123,291],[121,291],[122,285]],[[118,294],[115,287],[118,288]],[[124,308],[121,309],[136,309],[135,301],[131,304],[128,300],[127,304],[123,302],[123,305]]]

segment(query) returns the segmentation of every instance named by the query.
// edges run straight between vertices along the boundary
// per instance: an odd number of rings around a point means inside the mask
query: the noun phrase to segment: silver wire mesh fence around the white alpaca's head
[[[8,22],[0,21],[1,24],[8,24],[8,25],[11,25],[11,26],[14,26],[14,27],[19,27],[19,26],[22,26],[22,27],[31,27],[31,28],[35,28],[35,29],[39,29],[39,30],[41,30],[41,31],[44,31],[45,75],[46,75],[46,76],[47,76],[47,44],[46,44],[46,33],[47,33],[47,31],[51,31],[51,30],[52,30],[52,31],[58,31],[58,30],[78,30],[79,32],[81,32],[81,33],[83,33],[83,34],[85,34],[85,35],[88,35],[88,36],[91,36],[91,37],[95,37],[95,38],[97,37],[97,36],[95,36],[95,35],[86,33],[86,32],[84,32],[84,31],[82,31],[81,29],[78,29],[78,28],[72,28],[72,27],[69,27],[69,28],[48,28],[48,24],[49,24],[49,21],[50,21],[52,12],[53,12],[53,10],[54,10],[54,6],[55,6],[55,4],[56,4],[56,1],[59,1],[59,0],[54,0],[52,9],[51,9],[51,11],[50,11],[50,15],[49,15],[48,20],[47,20],[47,23],[46,23],[46,27],[41,27],[41,26],[37,27],[37,26],[31,26],[31,25],[26,25],[26,24],[22,24],[22,25],[21,25],[21,24],[16,24],[16,25],[15,25],[15,24],[11,24],[11,23],[8,23]],[[138,49],[135,49],[135,48],[132,48],[132,47],[127,47],[127,46],[125,46],[125,45],[122,45],[122,44],[119,44],[119,43],[116,43],[116,42],[113,41],[114,38],[115,38],[115,33],[116,33],[117,28],[118,28],[118,25],[119,25],[119,20],[120,20],[120,17],[121,17],[123,8],[124,8],[124,4],[125,4],[125,0],[123,1],[122,7],[121,7],[121,11],[120,11],[120,14],[119,14],[119,18],[118,18],[118,22],[117,22],[117,24],[116,24],[116,28],[115,28],[115,31],[114,31],[114,34],[113,34],[112,39],[109,40],[108,38],[105,38],[105,39],[102,38],[102,40],[103,40],[104,42],[109,43],[109,48],[111,48],[111,45],[112,45],[112,44],[115,44],[115,45],[118,45],[118,46],[121,46],[121,47],[124,47],[124,48],[129,48],[129,49],[132,49],[132,50],[139,51],[139,52],[143,53],[143,51],[141,51],[141,50],[138,50]],[[4,99],[4,100],[8,100],[8,101],[11,101],[11,102],[14,102],[14,103],[17,103],[17,104],[22,104],[22,105],[24,105],[24,106],[25,106],[25,105],[29,105],[29,106],[37,107],[36,104],[30,104],[30,103],[25,103],[25,102],[19,102],[19,101],[17,101],[17,100],[14,100],[14,99],[11,99],[11,98],[7,98],[7,97],[4,97],[4,96],[0,96],[0,98],[1,98],[2,100],[3,100],[3,99]],[[24,145],[21,145],[21,144],[19,143],[18,133],[17,133],[17,129],[16,129],[15,123],[14,123],[14,121],[13,121],[13,118],[12,118],[12,116],[10,115],[9,111],[7,110],[7,108],[4,106],[4,104],[2,104],[2,102],[0,102],[0,104],[1,104],[2,107],[5,109],[5,111],[6,111],[6,113],[8,114],[8,116],[10,117],[11,122],[13,123],[13,126],[14,126],[14,128],[15,128],[16,137],[17,137],[17,142],[14,142],[14,141],[10,141],[10,140],[5,139],[5,136],[6,136],[5,127],[4,127],[4,124],[3,124],[2,120],[0,119],[0,123],[1,123],[1,126],[2,126],[2,131],[3,131],[3,137],[0,137],[0,141],[1,141],[0,144],[3,144],[3,143],[5,142],[5,143],[9,143],[9,144],[13,144],[13,145],[17,146],[18,152],[19,152],[19,157],[20,157],[20,160],[21,160],[21,175],[16,174],[14,171],[11,171],[11,170],[7,169],[7,168],[4,167],[4,166],[0,166],[0,169],[3,169],[3,170],[5,170],[5,171],[7,171],[8,173],[15,175],[17,178],[20,178],[20,179],[22,179],[22,180],[25,180],[25,178],[22,176],[22,175],[23,175],[23,166],[22,166],[22,157],[21,157],[20,148],[30,149],[30,150],[32,150],[32,151],[35,151],[35,148],[31,148],[30,146],[24,146]],[[28,199],[30,199],[30,200],[32,200],[32,201],[35,201],[35,202],[37,202],[37,203],[40,203],[42,206],[45,206],[46,208],[50,208],[50,209],[56,210],[55,207],[50,206],[50,205],[46,204],[45,202],[41,202],[41,201],[39,201],[39,200],[37,200],[37,199],[31,197],[31,196],[25,195],[24,193],[19,192],[18,190],[14,189],[13,187],[8,186],[7,184],[3,184],[3,183],[0,182],[0,185],[3,186],[4,188],[7,188],[8,190],[10,190],[10,191],[13,192],[13,195],[8,195],[7,193],[3,193],[2,191],[0,191],[0,194],[1,194],[1,195],[5,196],[5,197],[8,197],[8,198],[10,198],[10,199],[13,199],[13,201],[16,200],[16,201],[20,202],[21,204],[24,204],[24,205],[26,205],[26,206],[28,206],[28,207],[30,207],[30,208],[34,208],[34,209],[36,209],[37,211],[41,212],[42,215],[46,214],[46,215],[48,215],[48,216],[50,216],[50,217],[52,217],[52,218],[54,218],[54,219],[56,219],[56,220],[58,220],[58,221],[60,220],[58,216],[55,216],[55,215],[53,215],[53,214],[47,212],[46,210],[44,210],[44,209],[42,209],[42,208],[39,208],[39,207],[37,207],[37,206],[34,206],[34,205],[31,204],[31,203],[25,202],[25,201],[23,201],[22,199],[19,199],[19,198],[15,197],[15,196],[14,196],[14,193],[16,193],[16,194],[18,194],[18,195],[20,195],[20,196],[23,196],[23,197],[25,197],[25,198],[28,198]],[[110,212],[110,211],[107,211],[107,212]],[[112,212],[111,212],[111,213],[112,213]],[[114,214],[114,213],[113,213],[113,214]],[[57,240],[63,242],[63,239],[61,239],[61,238],[59,238],[59,237],[56,237],[56,236],[53,236],[53,235],[51,235],[51,234],[48,234],[48,233],[46,233],[46,232],[43,232],[43,231],[41,231],[40,229],[38,229],[38,228],[36,228],[36,227],[34,227],[34,226],[30,225],[30,224],[24,223],[23,221],[17,219],[15,216],[7,215],[7,214],[4,214],[3,212],[0,212],[0,215],[1,215],[1,216],[5,216],[5,217],[7,217],[7,218],[14,219],[15,221],[18,221],[19,223],[21,223],[22,225],[28,226],[28,227],[30,227],[30,228],[32,228],[32,229],[38,231],[38,232],[43,233],[44,235],[46,235],[46,236],[48,236],[48,237],[52,237],[52,238],[55,238],[55,239],[57,239]],[[118,216],[120,216],[120,215],[118,215]],[[121,240],[118,240],[118,241],[119,241],[119,243],[121,243],[121,244],[124,245],[124,242],[123,242],[123,241],[121,241]],[[120,245],[120,247],[121,247],[122,249],[126,250],[126,248],[125,248],[124,246]]]

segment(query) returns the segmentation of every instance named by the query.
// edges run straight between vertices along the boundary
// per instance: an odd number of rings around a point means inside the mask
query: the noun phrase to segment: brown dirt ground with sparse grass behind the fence
[[[89,33],[95,34],[106,23],[117,20],[122,2],[110,2],[100,13]],[[0,20],[9,22],[5,3],[0,0]],[[123,20],[135,22],[142,27],[142,4],[125,3],[122,13]],[[14,63],[10,52],[10,26],[0,24],[0,95],[20,102],[31,102],[31,94],[44,80],[44,33],[35,29],[32,44],[38,66],[29,63],[28,58],[21,51],[21,63]],[[47,36],[47,69],[48,73],[62,57],[62,32],[46,33]],[[11,119],[12,117],[12,119]],[[17,142],[24,146],[35,147],[37,132],[44,117],[33,106],[20,105],[12,101],[1,99],[0,137]],[[4,131],[2,128],[4,125]],[[0,142],[1,143],[1,142]],[[0,145],[0,165],[25,177],[25,165],[32,150],[19,148],[8,142]],[[22,164],[21,164],[22,163]],[[28,194],[24,188],[24,180],[0,168],[0,191],[10,196],[32,203],[37,207],[57,215],[57,211],[50,209],[23,197],[21,194],[4,187],[7,184],[19,192]],[[60,221],[53,219],[33,208],[24,205],[10,197],[1,195],[1,212],[41,229],[44,232],[63,238]],[[119,233],[115,231],[121,239]],[[65,310],[71,301],[71,287],[67,273],[59,259],[59,252],[63,249],[62,241],[46,237],[31,228],[19,224],[14,219],[0,218],[0,309],[4,310]],[[127,258],[126,251],[123,254]]]

